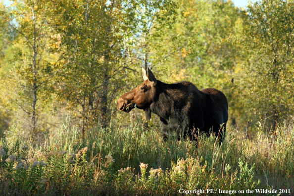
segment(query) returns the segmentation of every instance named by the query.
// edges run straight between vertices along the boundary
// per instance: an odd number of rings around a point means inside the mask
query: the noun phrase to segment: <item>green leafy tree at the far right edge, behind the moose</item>
[[[261,0],[247,8],[239,38],[245,53],[241,95],[247,112],[268,113],[268,125],[275,129],[294,111],[294,2]]]

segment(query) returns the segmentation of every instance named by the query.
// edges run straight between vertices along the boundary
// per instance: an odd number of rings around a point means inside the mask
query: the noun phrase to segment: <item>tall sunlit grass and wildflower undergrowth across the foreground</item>
[[[208,189],[217,195],[285,189],[293,195],[293,128],[267,135],[260,124],[252,141],[229,129],[222,145],[203,137],[196,147],[185,139],[162,143],[158,131],[144,132],[141,124],[112,123],[81,139],[65,122],[42,144],[1,139],[0,195],[210,195]]]

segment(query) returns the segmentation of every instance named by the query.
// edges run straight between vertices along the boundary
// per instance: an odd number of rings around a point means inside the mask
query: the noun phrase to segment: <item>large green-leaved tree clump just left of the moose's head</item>
[[[113,100],[142,63],[135,53],[149,25],[146,18],[153,19],[168,2],[50,1],[50,25],[63,47],[56,51],[70,62],[59,74],[57,93],[82,119],[82,133],[98,119],[104,127],[109,123]]]

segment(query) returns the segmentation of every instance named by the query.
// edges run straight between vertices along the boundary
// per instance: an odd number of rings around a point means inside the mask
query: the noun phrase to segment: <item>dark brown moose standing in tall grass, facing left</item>
[[[228,100],[222,92],[212,88],[199,91],[187,81],[165,84],[149,68],[142,68],[142,74],[144,82],[118,98],[118,110],[128,113],[135,107],[143,109],[147,120],[151,112],[158,115],[163,141],[170,132],[178,137],[188,134],[191,141],[197,141],[199,132],[211,131],[222,142],[229,117]]]

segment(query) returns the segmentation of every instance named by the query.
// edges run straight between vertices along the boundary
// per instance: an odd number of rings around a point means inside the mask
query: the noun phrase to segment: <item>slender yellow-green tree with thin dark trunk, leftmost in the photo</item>
[[[13,1],[5,21],[16,33],[4,80],[5,97],[11,109],[20,109],[21,116],[28,117],[30,134],[35,135],[40,131],[38,117],[52,92],[49,81],[58,70],[58,57],[49,52],[54,38],[40,0]]]

